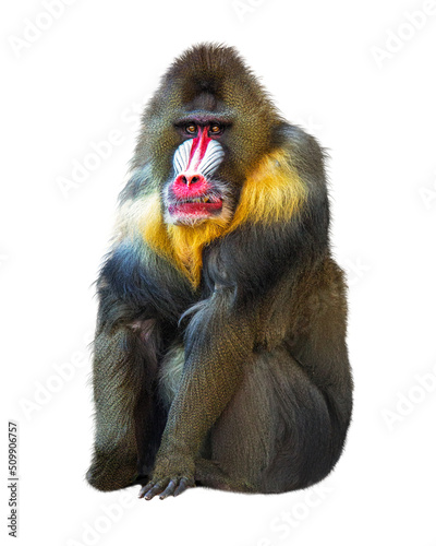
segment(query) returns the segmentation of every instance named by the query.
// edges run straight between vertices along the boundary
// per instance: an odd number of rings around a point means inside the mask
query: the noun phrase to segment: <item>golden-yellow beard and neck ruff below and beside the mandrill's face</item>
[[[197,226],[164,222],[160,195],[155,192],[128,202],[120,211],[121,236],[140,233],[157,253],[175,263],[195,288],[203,268],[203,249],[245,223],[288,222],[306,198],[306,188],[292,168],[289,155],[277,151],[266,155],[247,176],[234,215],[210,218]]]

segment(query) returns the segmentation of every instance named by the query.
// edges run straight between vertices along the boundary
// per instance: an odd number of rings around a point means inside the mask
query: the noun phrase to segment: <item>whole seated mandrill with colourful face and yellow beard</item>
[[[97,287],[92,486],[268,494],[331,471],[352,379],[324,154],[233,48],[164,75]]]

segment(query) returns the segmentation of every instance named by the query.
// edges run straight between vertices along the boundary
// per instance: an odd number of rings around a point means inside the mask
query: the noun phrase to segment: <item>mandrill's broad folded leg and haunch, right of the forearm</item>
[[[307,487],[336,462],[334,435],[324,395],[287,348],[259,353],[211,429],[213,461],[199,461],[197,484],[264,494]]]

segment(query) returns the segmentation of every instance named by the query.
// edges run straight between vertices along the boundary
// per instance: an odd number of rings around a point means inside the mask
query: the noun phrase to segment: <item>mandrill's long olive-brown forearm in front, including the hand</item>
[[[232,288],[220,288],[203,301],[185,337],[186,361],[171,405],[152,480],[140,497],[164,499],[194,485],[195,459],[209,428],[242,380],[252,353],[250,317],[234,312]]]

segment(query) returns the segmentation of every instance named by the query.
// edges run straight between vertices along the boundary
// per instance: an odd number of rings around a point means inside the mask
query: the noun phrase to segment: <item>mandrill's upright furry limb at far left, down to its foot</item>
[[[150,393],[156,356],[129,328],[100,332],[94,352],[96,438],[86,478],[109,491],[133,485],[153,465],[161,420]]]

